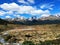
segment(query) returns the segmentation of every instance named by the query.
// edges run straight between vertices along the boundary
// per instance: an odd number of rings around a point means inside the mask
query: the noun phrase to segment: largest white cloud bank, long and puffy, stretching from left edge
[[[43,14],[50,14],[49,10],[41,10],[37,9],[33,6],[21,6],[16,3],[4,3],[0,5],[0,8],[6,10],[5,14],[29,14],[29,15],[43,15]],[[1,11],[0,11],[1,13]],[[1,13],[2,14],[2,13]]]

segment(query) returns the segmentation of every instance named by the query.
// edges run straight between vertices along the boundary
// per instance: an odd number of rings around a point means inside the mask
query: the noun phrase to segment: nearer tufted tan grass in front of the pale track
[[[8,31],[8,35],[11,35],[12,38],[14,37],[17,39],[16,42],[23,42],[23,41],[33,41],[34,43],[39,43],[39,41],[46,41],[46,40],[55,40],[60,38],[60,30],[25,30],[25,31]],[[25,35],[29,35],[31,37],[27,37]],[[8,42],[11,42],[11,39]]]

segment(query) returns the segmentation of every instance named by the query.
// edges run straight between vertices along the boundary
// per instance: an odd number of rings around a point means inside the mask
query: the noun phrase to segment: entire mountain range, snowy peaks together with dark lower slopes
[[[33,16],[27,19],[21,19],[18,17],[0,19],[0,24],[6,24],[6,23],[22,24],[22,25],[58,24],[60,23],[60,16],[50,15],[48,17],[41,17],[41,18],[37,18],[36,16]]]

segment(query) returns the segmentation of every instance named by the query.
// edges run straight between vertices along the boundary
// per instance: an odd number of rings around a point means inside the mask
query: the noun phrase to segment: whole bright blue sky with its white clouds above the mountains
[[[0,18],[47,17],[58,14],[60,0],[0,0]]]

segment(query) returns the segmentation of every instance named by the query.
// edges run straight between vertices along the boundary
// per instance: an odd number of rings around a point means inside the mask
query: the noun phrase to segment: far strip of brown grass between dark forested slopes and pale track
[[[16,25],[16,24],[8,24],[0,25],[0,30],[10,30],[10,29],[27,29],[33,28],[34,30],[60,30],[60,24],[45,24],[45,25]]]

